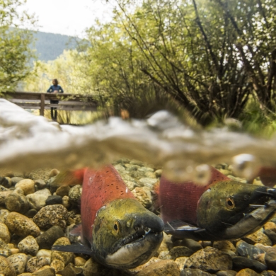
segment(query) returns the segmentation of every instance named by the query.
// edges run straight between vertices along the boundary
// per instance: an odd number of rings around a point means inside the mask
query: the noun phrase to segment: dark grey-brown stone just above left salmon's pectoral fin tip
[[[40,249],[51,249],[52,245],[58,238],[62,238],[64,232],[60,226],[52,226],[50,229],[42,233],[36,239]]]

